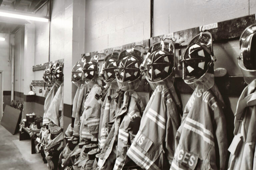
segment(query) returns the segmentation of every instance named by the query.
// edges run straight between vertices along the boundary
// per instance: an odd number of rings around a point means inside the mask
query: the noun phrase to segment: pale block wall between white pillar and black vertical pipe
[[[86,0],[85,51],[150,38],[150,0]]]

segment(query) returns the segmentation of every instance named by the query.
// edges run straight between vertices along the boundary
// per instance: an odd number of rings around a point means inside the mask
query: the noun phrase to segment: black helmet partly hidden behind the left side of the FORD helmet
[[[118,52],[113,52],[112,54],[109,54],[105,59],[103,63],[103,79],[106,83],[110,83],[115,81],[115,69],[117,69],[117,59],[118,59]]]

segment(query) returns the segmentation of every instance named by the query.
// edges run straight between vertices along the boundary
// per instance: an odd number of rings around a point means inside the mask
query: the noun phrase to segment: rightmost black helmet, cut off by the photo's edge
[[[245,68],[256,70],[256,24],[247,27],[240,37],[240,57]]]

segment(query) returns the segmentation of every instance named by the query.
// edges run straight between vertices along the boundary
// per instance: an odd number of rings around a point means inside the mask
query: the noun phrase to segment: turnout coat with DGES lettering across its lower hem
[[[215,86],[215,85],[214,85]],[[213,89],[213,88],[212,88]],[[170,170],[224,170],[227,132],[220,93],[215,88],[194,91],[184,109],[176,134],[175,154]]]

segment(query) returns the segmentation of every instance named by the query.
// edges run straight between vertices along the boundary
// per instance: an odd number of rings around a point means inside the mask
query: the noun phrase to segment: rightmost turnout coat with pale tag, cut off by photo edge
[[[229,146],[229,170],[256,170],[256,80],[245,87],[235,113],[234,138]]]

